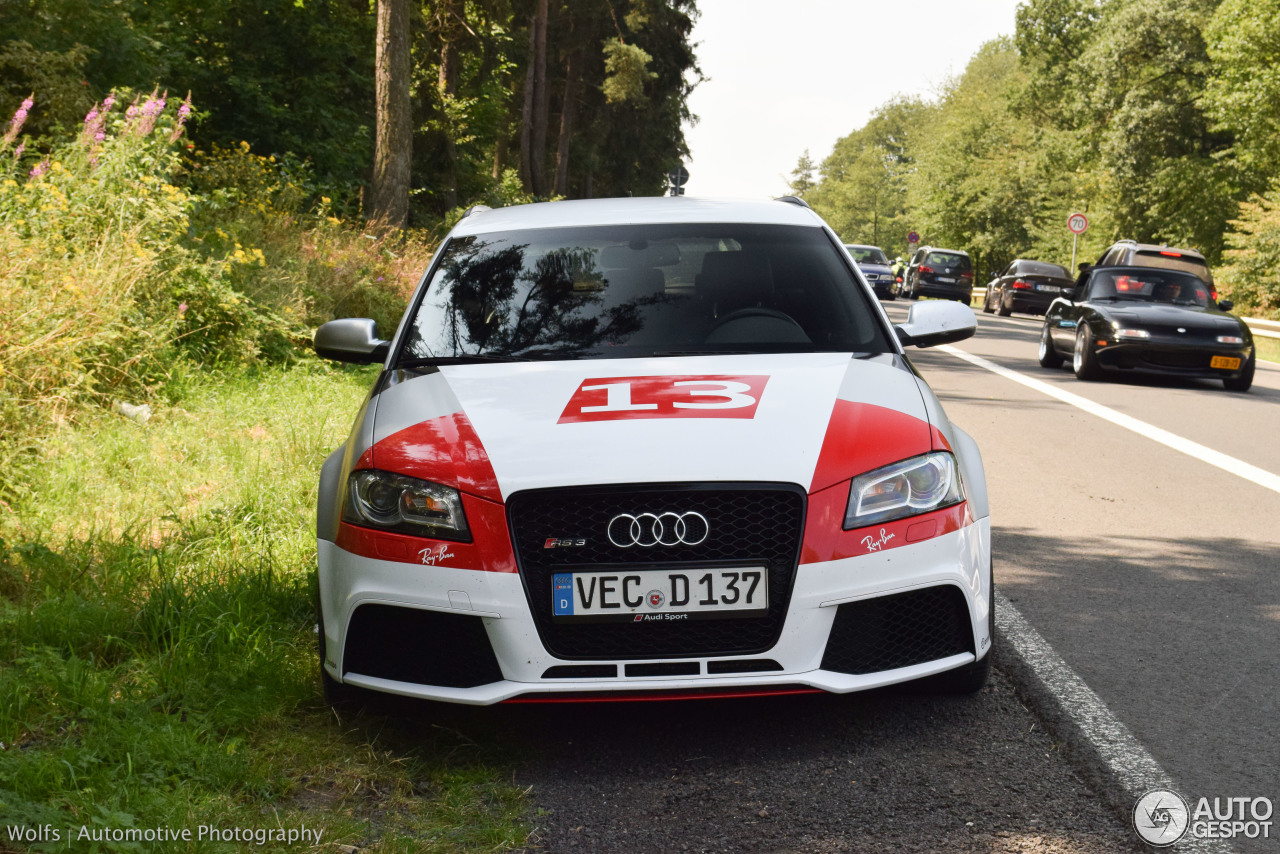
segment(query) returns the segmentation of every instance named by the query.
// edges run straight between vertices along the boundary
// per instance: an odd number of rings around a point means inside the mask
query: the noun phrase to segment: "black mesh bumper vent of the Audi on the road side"
[[[878,673],[972,652],[964,593],[946,584],[836,608],[822,668]]]

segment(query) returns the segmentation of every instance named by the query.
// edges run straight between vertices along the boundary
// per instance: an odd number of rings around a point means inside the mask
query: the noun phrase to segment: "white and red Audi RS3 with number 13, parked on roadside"
[[[330,702],[453,703],[983,685],[982,460],[804,202],[618,198],[474,209],[325,461]]]

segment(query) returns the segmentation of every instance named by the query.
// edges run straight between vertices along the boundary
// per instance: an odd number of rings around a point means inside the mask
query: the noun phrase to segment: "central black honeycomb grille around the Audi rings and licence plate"
[[[698,545],[618,548],[609,520],[620,513],[698,512],[709,525]],[[750,656],[782,631],[804,534],[805,494],[786,484],[625,485],[538,489],[507,502],[516,560],[539,635],[558,658],[618,659]],[[547,548],[550,539],[581,545]],[[552,574],[609,568],[765,566],[769,609],[714,620],[557,622]]]

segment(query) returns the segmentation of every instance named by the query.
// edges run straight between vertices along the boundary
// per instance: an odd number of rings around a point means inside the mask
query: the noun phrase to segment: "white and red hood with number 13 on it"
[[[900,356],[699,356],[390,374],[356,467],[493,501],[584,484],[823,489],[946,447]]]

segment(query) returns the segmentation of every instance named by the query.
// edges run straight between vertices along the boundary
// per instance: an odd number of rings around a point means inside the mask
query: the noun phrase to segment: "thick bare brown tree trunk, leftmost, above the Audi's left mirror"
[[[374,68],[376,129],[374,175],[365,219],[379,228],[408,224],[413,122],[410,101],[408,0],[378,0]]]

